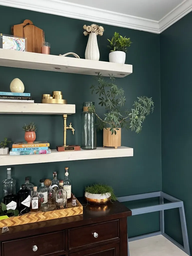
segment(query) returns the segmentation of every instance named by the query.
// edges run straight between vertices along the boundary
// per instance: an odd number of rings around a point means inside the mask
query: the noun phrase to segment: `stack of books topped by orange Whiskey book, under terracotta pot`
[[[37,155],[50,154],[49,143],[47,141],[34,141],[33,143],[14,142],[10,150],[10,156],[15,155]]]

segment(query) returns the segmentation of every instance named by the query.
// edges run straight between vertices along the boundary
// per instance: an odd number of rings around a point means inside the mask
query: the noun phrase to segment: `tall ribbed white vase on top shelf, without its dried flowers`
[[[99,48],[96,33],[89,34],[89,39],[85,50],[85,58],[87,60],[99,60]]]

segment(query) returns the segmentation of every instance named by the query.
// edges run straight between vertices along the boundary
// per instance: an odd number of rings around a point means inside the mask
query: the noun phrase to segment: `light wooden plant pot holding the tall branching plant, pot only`
[[[117,147],[121,146],[121,128],[116,130],[116,135],[111,134],[110,128],[103,128],[103,147]]]

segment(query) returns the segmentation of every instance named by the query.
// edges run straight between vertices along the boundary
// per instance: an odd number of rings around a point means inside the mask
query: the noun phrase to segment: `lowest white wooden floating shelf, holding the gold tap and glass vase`
[[[56,149],[51,150],[51,154],[39,154],[39,155],[18,155],[10,156],[0,155],[0,166],[3,165],[17,165],[17,164],[35,164],[35,163],[50,163],[50,162],[62,162],[73,161],[83,159],[97,159],[97,158],[110,158],[110,157],[125,157],[133,156],[133,148],[130,147],[118,147],[117,149],[112,147],[98,147],[95,150],[80,150],[80,151],[68,151],[58,152]]]

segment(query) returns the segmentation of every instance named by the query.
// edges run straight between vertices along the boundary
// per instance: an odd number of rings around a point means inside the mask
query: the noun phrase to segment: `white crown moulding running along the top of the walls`
[[[192,0],[184,0],[161,20],[150,20],[61,0],[0,0],[0,5],[34,10],[70,18],[99,22],[113,26],[138,29],[152,33],[161,33],[192,10]]]

